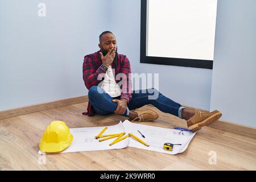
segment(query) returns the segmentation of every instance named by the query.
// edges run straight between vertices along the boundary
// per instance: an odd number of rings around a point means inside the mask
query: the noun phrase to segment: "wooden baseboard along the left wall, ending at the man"
[[[80,97],[46,102],[46,103],[36,104],[36,105],[31,105],[31,106],[18,107],[18,108],[9,109],[9,110],[3,110],[3,111],[0,111],[0,119],[35,113],[35,112],[47,110],[47,109],[54,109],[56,107],[63,107],[63,106],[72,105],[72,104],[79,104],[81,102],[86,102],[86,101],[88,101],[88,96],[80,96]]]

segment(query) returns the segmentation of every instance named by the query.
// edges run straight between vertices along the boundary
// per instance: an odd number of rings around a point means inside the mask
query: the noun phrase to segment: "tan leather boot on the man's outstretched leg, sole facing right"
[[[200,110],[196,110],[196,114],[192,118],[188,119],[188,129],[192,131],[200,130],[203,126],[208,126],[216,122],[221,117],[221,112],[214,110],[210,113],[204,113]]]

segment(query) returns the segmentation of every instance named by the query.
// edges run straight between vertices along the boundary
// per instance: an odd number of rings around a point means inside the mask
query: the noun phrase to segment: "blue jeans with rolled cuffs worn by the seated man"
[[[88,92],[89,102],[93,106],[94,111],[100,115],[108,115],[114,113],[117,109],[117,103],[113,99],[120,100],[121,96],[111,97],[103,89],[98,86],[92,86]],[[152,98],[152,99],[150,99]],[[170,113],[182,118],[181,112],[185,107],[179,103],[172,101],[170,98],[163,96],[157,89],[135,90],[131,93],[131,100],[127,104],[127,109],[123,116],[128,116],[130,110],[137,109],[147,104],[152,104],[164,113]]]

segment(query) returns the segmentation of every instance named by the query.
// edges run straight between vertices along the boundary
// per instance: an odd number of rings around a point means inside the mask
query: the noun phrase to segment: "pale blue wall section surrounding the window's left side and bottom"
[[[159,91],[165,96],[180,104],[209,110],[212,70],[139,63],[141,1],[111,1],[111,31],[117,37],[118,52],[131,62],[131,72],[159,73]]]

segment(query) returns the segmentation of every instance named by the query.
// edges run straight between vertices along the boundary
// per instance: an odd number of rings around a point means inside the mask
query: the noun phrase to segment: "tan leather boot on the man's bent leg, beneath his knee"
[[[159,117],[159,114],[152,109],[147,109],[147,110],[139,110],[139,109],[135,109],[134,110],[135,113],[138,113],[138,117],[133,119],[133,121],[154,121],[155,119],[157,119]],[[131,122],[133,122],[131,121]]]

